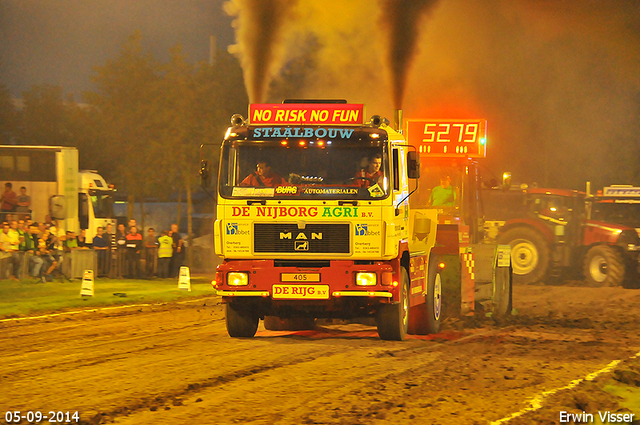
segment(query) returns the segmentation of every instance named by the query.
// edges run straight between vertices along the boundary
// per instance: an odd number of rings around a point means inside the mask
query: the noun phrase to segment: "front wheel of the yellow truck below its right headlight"
[[[388,341],[402,341],[409,330],[409,275],[402,268],[400,302],[382,304],[376,315],[378,335]]]

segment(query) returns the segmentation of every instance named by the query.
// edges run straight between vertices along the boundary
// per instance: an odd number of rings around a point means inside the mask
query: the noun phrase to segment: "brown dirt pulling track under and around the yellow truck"
[[[639,290],[517,286],[507,321],[448,320],[404,342],[355,324],[232,339],[218,302],[1,322],[3,419],[61,410],[85,423],[488,424],[625,360],[508,421],[552,424],[560,410],[618,410],[599,390],[612,376],[640,387],[640,358],[628,360],[640,352]]]

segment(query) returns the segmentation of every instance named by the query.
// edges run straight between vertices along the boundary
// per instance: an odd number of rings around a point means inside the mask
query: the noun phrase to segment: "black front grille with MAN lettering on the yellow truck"
[[[254,252],[348,254],[348,224],[254,224]]]

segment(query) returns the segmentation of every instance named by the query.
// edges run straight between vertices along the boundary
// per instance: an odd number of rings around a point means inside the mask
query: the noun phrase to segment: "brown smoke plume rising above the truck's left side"
[[[251,103],[264,102],[269,82],[281,65],[282,38],[297,0],[230,0],[225,11],[234,16],[236,54],[244,72]]]

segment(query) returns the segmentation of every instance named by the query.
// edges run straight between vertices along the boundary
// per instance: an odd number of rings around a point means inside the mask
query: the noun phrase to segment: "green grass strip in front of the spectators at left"
[[[178,279],[96,279],[93,297],[81,297],[81,280],[33,283],[0,281],[0,318],[78,308],[167,302],[215,295],[210,279],[192,278],[191,292],[178,289]],[[117,296],[126,294],[126,296]]]

